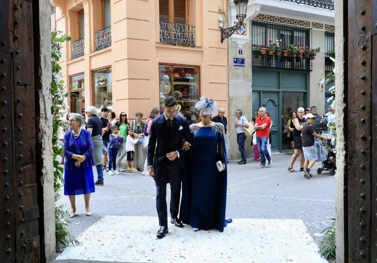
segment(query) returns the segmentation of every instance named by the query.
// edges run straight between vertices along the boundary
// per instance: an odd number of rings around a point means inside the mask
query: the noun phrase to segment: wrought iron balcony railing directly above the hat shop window
[[[160,22],[160,42],[195,47],[195,26]]]

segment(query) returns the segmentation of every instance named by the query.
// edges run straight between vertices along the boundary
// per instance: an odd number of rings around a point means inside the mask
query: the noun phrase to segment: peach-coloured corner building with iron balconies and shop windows
[[[60,48],[72,112],[105,105],[117,118],[147,118],[174,95],[183,114],[205,95],[228,115],[228,42],[218,22],[226,1],[51,2],[57,30],[72,37]]]

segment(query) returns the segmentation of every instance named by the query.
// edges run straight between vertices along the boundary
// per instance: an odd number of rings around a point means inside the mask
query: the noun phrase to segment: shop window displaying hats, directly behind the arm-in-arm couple
[[[195,104],[199,100],[199,68],[178,67],[169,65],[159,66],[160,108],[166,96],[173,96],[178,102],[178,112],[184,115],[189,112],[195,122]]]

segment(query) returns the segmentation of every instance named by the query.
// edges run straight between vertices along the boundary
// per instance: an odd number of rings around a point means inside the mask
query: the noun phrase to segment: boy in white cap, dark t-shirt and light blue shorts
[[[303,125],[301,131],[302,137],[302,150],[305,157],[304,162],[304,173],[305,177],[310,179],[310,177],[314,177],[310,173],[310,169],[316,164],[317,162],[317,151],[316,147],[314,146],[314,137],[320,138],[323,141],[327,141],[327,139],[321,135],[318,135],[314,130],[314,127],[311,125],[314,122],[315,116],[311,113],[306,115],[306,124]]]

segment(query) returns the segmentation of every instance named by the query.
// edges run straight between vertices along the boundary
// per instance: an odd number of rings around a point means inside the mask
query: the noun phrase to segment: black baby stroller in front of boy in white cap
[[[322,161],[322,166],[321,168],[317,169],[317,174],[322,173],[322,171],[330,171],[330,175],[335,175],[336,154],[332,151],[333,149],[335,149],[335,146],[332,145],[329,140],[325,142],[325,144],[327,144],[327,148],[330,148],[331,151],[327,150],[324,147],[324,143],[321,140],[316,139],[314,141],[314,145],[316,146],[317,150],[318,161]]]

